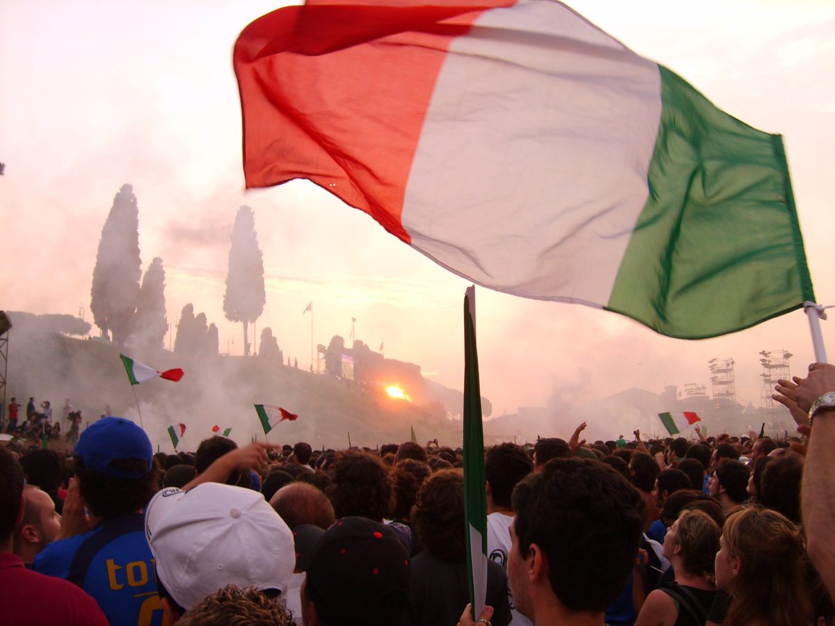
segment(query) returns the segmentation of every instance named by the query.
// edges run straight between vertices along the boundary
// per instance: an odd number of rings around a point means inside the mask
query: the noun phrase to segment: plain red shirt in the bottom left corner
[[[61,578],[23,567],[13,553],[0,553],[0,620],[18,626],[108,626],[96,601]]]

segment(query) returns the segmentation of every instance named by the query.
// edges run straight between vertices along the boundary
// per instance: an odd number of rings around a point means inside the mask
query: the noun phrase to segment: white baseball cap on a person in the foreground
[[[157,492],[145,537],[159,581],[185,609],[229,583],[283,597],[296,563],[293,533],[264,496],[219,482]]]

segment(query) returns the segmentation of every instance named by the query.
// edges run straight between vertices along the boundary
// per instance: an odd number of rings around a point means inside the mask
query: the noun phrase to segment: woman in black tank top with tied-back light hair
[[[635,626],[704,626],[716,595],[713,565],[720,534],[706,512],[681,512],[664,538],[676,582],[646,597]]]

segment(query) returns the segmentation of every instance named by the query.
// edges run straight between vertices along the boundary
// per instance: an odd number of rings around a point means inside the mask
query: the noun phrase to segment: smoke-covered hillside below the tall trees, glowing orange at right
[[[433,403],[416,406],[389,398],[380,388],[357,386],[328,376],[280,366],[256,358],[191,358],[169,351],[134,351],[137,361],[163,370],[182,367],[182,381],[154,380],[131,387],[119,351],[109,343],[56,333],[13,329],[9,341],[8,398],[25,406],[49,400],[53,416],[63,416],[64,401],[83,412],[83,426],[104,413],[141,422],[154,446],[170,452],[167,427],[186,425],[180,449],[193,450],[215,424],[232,427],[231,438],[264,441],[253,403],[283,406],[298,414],[269,435],[272,443],[310,442],[314,447],[375,447],[409,438],[409,427],[425,443],[460,445],[460,427]],[[134,398],[135,392],[135,398]],[[108,410],[109,409],[109,410]],[[23,412],[23,407],[21,409]],[[66,423],[63,424],[66,429]]]

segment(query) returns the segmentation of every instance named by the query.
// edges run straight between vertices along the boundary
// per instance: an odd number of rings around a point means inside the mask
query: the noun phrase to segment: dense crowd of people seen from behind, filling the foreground
[[[0,449],[0,622],[832,626],[835,366],[777,393],[800,437],[489,447],[477,615],[461,448],[154,454],[107,416]]]

